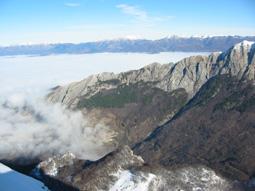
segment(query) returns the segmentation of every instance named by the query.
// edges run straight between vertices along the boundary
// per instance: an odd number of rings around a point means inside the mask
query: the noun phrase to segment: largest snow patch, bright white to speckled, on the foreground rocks
[[[176,170],[158,169],[154,172],[119,169],[112,174],[116,181],[110,191],[226,191],[231,184],[213,170],[203,167],[184,167]]]

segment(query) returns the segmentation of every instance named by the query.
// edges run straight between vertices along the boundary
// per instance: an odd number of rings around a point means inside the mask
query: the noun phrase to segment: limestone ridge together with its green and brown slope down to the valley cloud
[[[116,147],[133,146],[170,120],[212,77],[254,79],[254,52],[255,44],[244,41],[226,52],[191,56],[175,64],[92,75],[56,88],[47,99],[82,110],[92,124],[104,119],[116,132]]]

